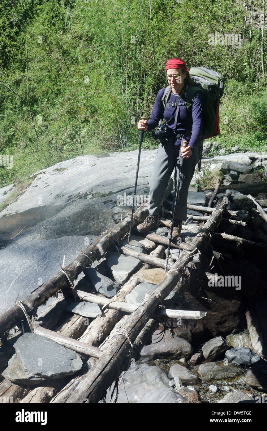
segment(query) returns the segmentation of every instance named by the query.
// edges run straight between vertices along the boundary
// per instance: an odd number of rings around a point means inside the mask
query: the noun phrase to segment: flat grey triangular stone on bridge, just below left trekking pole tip
[[[114,279],[123,284],[142,263],[132,256],[110,252],[107,255],[107,268],[110,269]]]

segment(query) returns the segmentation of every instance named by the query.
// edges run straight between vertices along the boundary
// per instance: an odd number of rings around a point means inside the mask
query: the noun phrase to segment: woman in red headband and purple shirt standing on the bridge
[[[165,88],[162,88],[157,94],[150,119],[148,121],[140,120],[137,125],[139,130],[146,132],[157,127],[159,121],[164,117],[171,129],[170,136],[166,138],[167,141],[164,140],[166,143],[160,144],[150,176],[149,215],[143,223],[137,226],[137,230],[142,233],[159,227],[159,212],[163,194],[174,168],[178,178],[179,156],[182,156],[184,166],[172,231],[172,240],[177,240],[181,234],[182,221],[187,219],[188,188],[199,159],[198,146],[201,144],[202,97],[197,91],[193,97],[192,109],[187,110],[184,101],[186,100],[188,89],[194,85],[194,82],[190,77],[186,64],[182,60],[172,58],[166,62],[166,77],[171,86],[171,95],[167,100],[168,103],[166,103],[165,109],[162,101]],[[180,101],[182,105],[177,106],[176,103]],[[188,142],[185,148],[181,144],[184,140]]]

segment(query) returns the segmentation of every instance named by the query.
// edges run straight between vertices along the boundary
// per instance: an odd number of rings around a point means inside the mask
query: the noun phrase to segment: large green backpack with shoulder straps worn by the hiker
[[[219,106],[220,106],[220,97],[224,92],[224,77],[213,70],[206,69],[205,67],[191,67],[190,76],[193,79],[195,85],[193,87],[188,88],[185,93],[185,102],[180,101],[177,103],[178,106],[186,105],[187,109],[190,110],[192,108],[193,98],[197,92],[200,92],[202,95],[202,103],[203,103],[203,124],[202,124],[202,132],[201,139],[199,140],[199,145],[203,142],[203,139],[208,139],[210,137],[216,136],[220,134],[220,125],[219,125]],[[170,85],[166,87],[162,102],[165,109],[167,105],[167,101],[171,95],[171,87]],[[200,150],[199,156],[199,171],[201,166],[201,157],[202,157],[202,147]]]

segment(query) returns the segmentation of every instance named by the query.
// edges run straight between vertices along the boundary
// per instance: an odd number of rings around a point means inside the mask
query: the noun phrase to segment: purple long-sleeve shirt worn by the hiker
[[[174,108],[172,106],[166,106],[164,111],[163,103],[161,101],[164,90],[165,88],[162,88],[157,94],[157,98],[154,103],[153,110],[150,115],[150,119],[147,122],[147,125],[148,125],[147,131],[154,129],[159,125],[160,119],[163,118],[163,112],[164,112],[164,118],[166,122],[169,121],[169,119],[171,118],[172,112],[174,111],[174,109],[176,112],[177,108]],[[175,103],[177,100],[177,97],[178,97],[178,94],[171,93],[168,103]],[[185,95],[183,95],[182,99],[183,101],[185,100]],[[173,131],[174,131],[174,122],[175,122],[175,112],[171,121],[168,122],[169,127],[172,128]],[[183,133],[184,137],[187,138],[188,147],[196,147],[196,143],[197,141],[199,141],[201,127],[202,127],[202,97],[201,97],[201,94],[197,92],[193,97],[192,111],[191,110],[188,111],[186,109],[186,106],[180,106],[175,134]],[[190,132],[188,133],[188,131]],[[192,131],[192,135],[191,135],[191,131]],[[181,140],[174,139],[174,144],[181,145]]]

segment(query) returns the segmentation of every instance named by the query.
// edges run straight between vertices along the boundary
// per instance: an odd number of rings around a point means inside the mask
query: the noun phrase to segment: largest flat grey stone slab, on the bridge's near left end
[[[83,365],[76,352],[37,334],[21,335],[14,347],[16,353],[2,375],[18,384],[37,384],[73,375]]]

